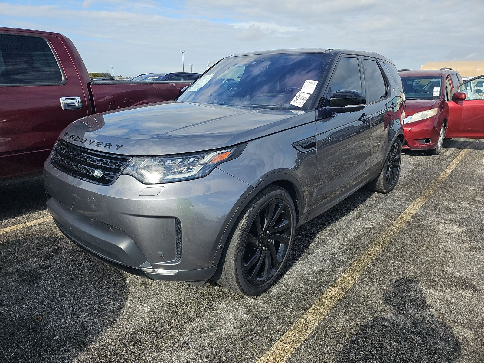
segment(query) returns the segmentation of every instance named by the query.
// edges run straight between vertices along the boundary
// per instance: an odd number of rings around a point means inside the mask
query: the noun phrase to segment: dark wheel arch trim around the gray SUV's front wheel
[[[303,211],[305,206],[304,194],[299,181],[297,181],[297,179],[294,176],[288,173],[285,173],[284,171],[272,172],[266,175],[266,177],[261,179],[262,180],[255,187],[248,188],[247,191],[244,194],[242,194],[242,197],[239,198],[239,200],[237,201],[237,203],[234,205],[229,215],[227,216],[226,223],[224,224],[224,227],[221,228],[220,233],[217,236],[217,241],[216,241],[217,249],[214,255],[212,266],[218,264],[220,257],[222,256],[222,252],[225,250],[227,246],[227,240],[230,235],[230,232],[235,226],[237,218],[242,213],[245,206],[252,200],[252,198],[254,198],[257,195],[257,193],[259,193],[262,189],[264,189],[268,185],[275,184],[287,190],[287,193],[289,193],[294,203],[294,208],[296,210],[295,222],[296,222],[296,226],[298,226],[298,223],[304,214]]]

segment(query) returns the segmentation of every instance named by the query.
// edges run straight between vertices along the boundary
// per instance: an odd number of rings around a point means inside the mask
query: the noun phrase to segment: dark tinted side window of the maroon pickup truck
[[[44,38],[0,34],[0,84],[61,82],[61,70]]]

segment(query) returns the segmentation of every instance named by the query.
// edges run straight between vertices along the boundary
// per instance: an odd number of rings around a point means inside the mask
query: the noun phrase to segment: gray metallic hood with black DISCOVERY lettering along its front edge
[[[61,138],[95,151],[168,155],[224,148],[314,120],[315,111],[160,102],[79,119]]]

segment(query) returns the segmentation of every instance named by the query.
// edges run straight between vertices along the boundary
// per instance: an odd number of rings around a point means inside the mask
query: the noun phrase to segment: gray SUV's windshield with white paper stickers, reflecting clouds
[[[261,54],[226,58],[197,79],[178,101],[307,109],[331,54]]]

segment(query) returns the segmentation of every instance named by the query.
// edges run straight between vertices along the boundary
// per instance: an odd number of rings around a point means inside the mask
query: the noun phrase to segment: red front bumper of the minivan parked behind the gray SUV
[[[405,123],[403,131],[405,135],[404,149],[426,150],[435,149],[439,140],[441,123],[439,114],[425,120]],[[425,140],[430,140],[426,143]]]

